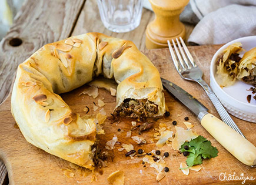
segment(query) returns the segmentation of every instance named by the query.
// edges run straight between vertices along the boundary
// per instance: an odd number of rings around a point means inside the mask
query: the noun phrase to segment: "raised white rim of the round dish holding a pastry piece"
[[[225,96],[228,96],[234,102],[241,103],[243,106],[249,107],[251,109],[256,109],[255,105],[250,105],[250,104],[241,102],[241,101],[235,99],[234,97],[228,95],[223,89],[221,89],[220,85],[218,85],[217,81],[215,80],[215,76],[214,76],[214,67],[215,67],[215,63],[216,63],[216,59],[217,59],[218,55],[220,55],[220,53],[225,48],[227,48],[228,45],[231,45],[232,43],[241,42],[241,40],[242,40],[242,42],[247,42],[247,41],[250,41],[251,39],[255,39],[256,40],[256,36],[245,36],[245,37],[242,37],[242,38],[239,38],[239,39],[235,39],[234,41],[228,42],[224,46],[222,46],[220,49],[218,49],[218,51],[214,54],[214,56],[212,57],[212,60],[211,60],[210,76],[212,77],[211,78],[211,82],[213,83],[213,85],[215,85],[218,90],[221,90],[221,92],[224,93]]]

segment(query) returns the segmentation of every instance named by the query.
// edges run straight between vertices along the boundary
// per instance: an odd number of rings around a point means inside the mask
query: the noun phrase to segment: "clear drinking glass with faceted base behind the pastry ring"
[[[97,0],[104,26],[112,32],[129,32],[141,22],[142,0]]]

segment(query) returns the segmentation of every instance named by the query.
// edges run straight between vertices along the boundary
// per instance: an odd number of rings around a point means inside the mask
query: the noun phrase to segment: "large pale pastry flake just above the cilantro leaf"
[[[191,141],[191,139],[195,139],[195,137],[198,136],[198,134],[192,132],[191,129],[185,130],[182,127],[175,126],[175,130],[175,137],[174,139],[172,139],[172,148],[174,150],[179,150],[179,148],[185,141],[189,142]]]

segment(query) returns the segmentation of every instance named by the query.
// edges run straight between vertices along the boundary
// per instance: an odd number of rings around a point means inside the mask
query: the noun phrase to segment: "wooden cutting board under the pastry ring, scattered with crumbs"
[[[210,79],[211,58],[218,48],[220,48],[220,45],[189,47],[198,66],[203,70],[204,79],[208,84]],[[181,88],[187,90],[192,96],[196,97],[208,107],[213,115],[219,117],[204,90],[198,84],[182,80],[179,77],[172,64],[168,49],[150,50],[145,52],[145,55],[157,66],[163,78],[171,80],[181,86]],[[90,108],[88,114],[97,113],[98,110],[96,112],[93,111],[93,102],[97,103],[98,99],[103,98],[103,101],[106,103],[104,106],[105,111],[108,115],[112,112],[115,107],[115,97],[111,96],[107,90],[99,89],[99,96],[93,99],[88,95],[78,96],[84,89],[85,86],[62,95],[65,102],[71,106],[74,112],[81,114],[81,116],[85,115],[83,109],[87,105]],[[124,151],[119,152],[117,150],[121,148],[121,144],[117,144],[115,149],[110,151],[110,153],[114,154],[114,160],[108,160],[108,167],[102,168],[102,171],[95,170],[97,180],[94,180],[92,184],[108,184],[107,177],[116,170],[124,171],[125,184],[241,184],[242,180],[224,180],[224,174],[228,177],[229,174],[233,175],[234,173],[234,177],[240,177],[240,175],[243,174],[244,177],[256,178],[256,169],[245,166],[228,153],[227,150],[200,125],[197,117],[167,92],[165,92],[165,101],[171,116],[162,117],[155,123],[155,126],[158,126],[159,123],[166,123],[168,126],[171,126],[171,129],[175,132],[172,121],[176,120],[177,126],[185,128],[183,121],[184,117],[187,116],[189,117],[189,122],[195,125],[192,130],[206,137],[212,142],[213,146],[217,147],[219,151],[218,157],[211,160],[204,160],[200,171],[190,171],[189,175],[186,176],[178,168],[179,163],[185,162],[187,157],[184,157],[182,154],[177,156],[177,151],[165,145],[159,148],[159,150],[161,150],[161,154],[164,152],[169,152],[170,154],[170,156],[165,159],[169,167],[169,172],[166,173],[167,176],[165,176],[164,179],[157,183],[157,171],[154,168],[149,167],[149,164],[146,164],[144,167],[142,157],[135,157],[135,159],[125,157]],[[0,106],[0,117],[2,119],[0,122],[0,158],[4,160],[6,164],[11,184],[88,184],[92,179],[91,171],[86,169],[73,169],[70,162],[52,156],[26,142],[11,115],[10,103],[11,98],[9,96]],[[232,118],[247,139],[252,142],[252,144],[256,145],[256,124],[245,122],[236,117]],[[141,148],[145,150],[145,152],[150,152],[152,149],[158,149],[155,146],[155,142],[151,143],[151,139],[155,133],[152,129],[142,135],[138,134],[138,130],[132,131],[132,136],[144,137],[147,140],[147,144],[142,146],[139,146],[131,138],[126,137],[127,131],[131,129],[131,120],[124,119],[114,124],[111,124],[107,120],[103,126],[105,134],[99,135],[98,137],[99,144],[102,148],[104,148],[108,140],[112,139],[114,134],[117,134],[119,142],[133,144],[135,150]],[[121,129],[121,132],[118,132],[118,129]],[[74,173],[74,177],[68,178],[65,176],[64,172],[67,171],[67,169]],[[221,180],[219,177],[221,177]],[[245,184],[252,183],[256,183],[256,181],[245,181]]]

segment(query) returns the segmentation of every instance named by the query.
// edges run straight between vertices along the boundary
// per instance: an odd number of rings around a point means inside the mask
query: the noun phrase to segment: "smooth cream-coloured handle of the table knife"
[[[202,117],[201,125],[240,162],[248,166],[256,164],[256,147],[230,126],[210,113]]]

